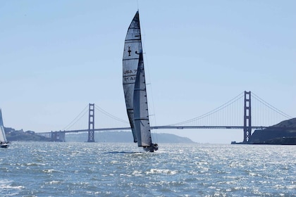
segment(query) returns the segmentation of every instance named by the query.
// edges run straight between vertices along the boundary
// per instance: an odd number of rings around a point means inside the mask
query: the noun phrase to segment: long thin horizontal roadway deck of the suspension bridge
[[[243,129],[243,126],[153,126],[151,129]],[[266,129],[264,126],[252,127],[252,129]],[[122,131],[130,130],[130,127],[117,127],[117,128],[101,128],[94,129],[95,132],[102,131]],[[79,132],[88,132],[88,129],[78,129],[78,130],[69,130],[69,131],[59,131],[69,133],[79,133]],[[51,132],[38,132],[36,134],[50,134]]]

